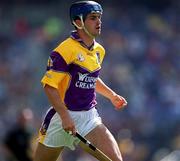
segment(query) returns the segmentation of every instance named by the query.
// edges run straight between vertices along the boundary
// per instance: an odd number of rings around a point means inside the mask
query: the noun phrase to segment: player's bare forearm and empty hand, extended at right
[[[96,81],[96,92],[108,98],[116,109],[120,109],[127,105],[126,99],[114,92],[100,78]]]

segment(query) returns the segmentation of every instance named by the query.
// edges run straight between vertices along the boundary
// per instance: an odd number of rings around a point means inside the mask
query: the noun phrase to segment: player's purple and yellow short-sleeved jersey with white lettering
[[[95,85],[105,55],[94,41],[88,49],[76,32],[51,53],[43,85],[58,89],[65,106],[72,111],[89,110],[96,102]]]

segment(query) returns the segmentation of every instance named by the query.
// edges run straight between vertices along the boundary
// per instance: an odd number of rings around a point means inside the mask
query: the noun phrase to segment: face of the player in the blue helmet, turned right
[[[101,33],[101,14],[100,13],[90,13],[86,16],[84,21],[85,28],[94,37],[99,36]]]

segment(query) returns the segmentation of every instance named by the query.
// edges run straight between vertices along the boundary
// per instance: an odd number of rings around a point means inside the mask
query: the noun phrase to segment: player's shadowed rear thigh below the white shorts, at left
[[[38,143],[33,161],[56,161],[63,147],[51,148]]]

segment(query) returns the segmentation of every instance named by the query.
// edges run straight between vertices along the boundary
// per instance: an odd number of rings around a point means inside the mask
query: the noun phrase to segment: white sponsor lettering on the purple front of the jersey
[[[75,86],[83,89],[94,89],[96,85],[97,77],[88,76],[88,73],[78,73],[78,80]]]

